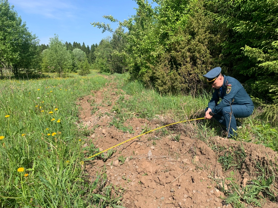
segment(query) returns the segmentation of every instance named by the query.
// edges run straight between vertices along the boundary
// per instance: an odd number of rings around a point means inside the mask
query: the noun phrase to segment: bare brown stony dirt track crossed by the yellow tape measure
[[[83,126],[94,129],[85,146],[93,141],[103,151],[140,135],[144,126],[156,129],[169,122],[163,117],[151,121],[133,117],[125,120],[124,125],[132,127],[134,132],[124,133],[114,126],[109,127],[117,113],[111,109],[119,93],[115,84],[109,84],[94,91],[94,96],[88,95],[78,101]],[[182,128],[176,126],[175,129],[182,132],[178,142],[174,137],[178,138],[180,132],[152,131],[115,147],[116,152],[105,162],[93,160],[86,165],[85,171],[93,178],[105,166],[107,183],[122,189],[122,205],[129,208],[232,207],[225,204],[221,191],[224,187],[217,187],[217,179],[225,181],[228,175],[218,163],[219,151],[213,151],[197,138],[190,138]],[[257,162],[266,166],[277,164],[276,153],[263,145],[219,137],[210,138],[209,143],[218,150],[219,146],[227,150],[242,147],[245,158],[240,174],[244,176],[257,170]],[[264,207],[277,207],[277,204],[266,202]]]

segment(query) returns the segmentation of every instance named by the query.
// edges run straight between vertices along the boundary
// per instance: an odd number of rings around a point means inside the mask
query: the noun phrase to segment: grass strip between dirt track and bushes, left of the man
[[[206,95],[161,95],[153,89],[146,89],[140,82],[127,83],[123,89],[132,95],[126,101],[126,107],[140,117],[149,119],[156,115],[171,115],[176,120],[198,117],[204,112],[208,99]]]

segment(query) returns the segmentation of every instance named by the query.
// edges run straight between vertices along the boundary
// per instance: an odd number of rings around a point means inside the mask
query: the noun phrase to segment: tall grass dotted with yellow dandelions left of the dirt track
[[[1,80],[0,204],[2,207],[83,207],[96,184],[81,176],[78,98],[107,80],[90,77]]]

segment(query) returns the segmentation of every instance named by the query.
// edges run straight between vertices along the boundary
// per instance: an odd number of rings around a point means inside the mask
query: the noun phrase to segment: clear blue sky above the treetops
[[[136,14],[138,8],[132,0],[8,0],[32,34],[40,39],[40,44],[48,44],[54,34],[63,42],[83,42],[91,47],[101,39],[111,36],[90,23],[105,22],[113,29],[117,23],[104,19],[112,15],[119,21]]]

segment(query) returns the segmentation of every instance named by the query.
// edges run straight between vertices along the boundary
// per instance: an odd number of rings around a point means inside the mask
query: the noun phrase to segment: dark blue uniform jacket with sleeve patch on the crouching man
[[[221,112],[223,107],[231,105],[253,105],[250,96],[237,79],[223,75],[224,82],[220,89],[214,89],[209,108],[213,114]],[[222,99],[220,101],[220,98]],[[217,103],[220,103],[217,105]]]

